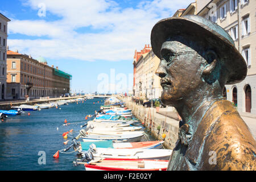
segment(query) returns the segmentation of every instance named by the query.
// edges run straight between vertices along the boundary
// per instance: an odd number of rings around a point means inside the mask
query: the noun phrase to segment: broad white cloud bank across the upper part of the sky
[[[9,34],[38,36],[35,40],[8,39],[10,49],[50,59],[132,60],[135,49],[150,44],[151,29],[158,20],[172,16],[192,0],[142,1],[137,7],[121,9],[107,0],[26,0],[24,6],[39,10],[45,3],[46,16],[58,20],[19,20],[9,22]],[[91,32],[76,32],[77,28]],[[96,32],[92,32],[95,30]],[[47,36],[48,39],[40,38]],[[26,52],[25,52],[26,51]]]

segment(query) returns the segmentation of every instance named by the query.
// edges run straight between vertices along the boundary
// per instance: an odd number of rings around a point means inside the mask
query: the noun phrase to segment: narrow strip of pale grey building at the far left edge
[[[6,52],[7,52],[7,23],[9,18],[0,13],[0,100],[6,99]]]

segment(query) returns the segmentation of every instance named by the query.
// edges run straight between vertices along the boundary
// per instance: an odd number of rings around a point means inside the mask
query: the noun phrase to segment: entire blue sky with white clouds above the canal
[[[154,24],[194,1],[1,0],[0,13],[9,49],[71,74],[72,91],[124,93]]]

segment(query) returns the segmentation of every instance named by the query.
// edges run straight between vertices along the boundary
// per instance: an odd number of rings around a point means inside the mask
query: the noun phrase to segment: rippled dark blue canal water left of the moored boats
[[[72,164],[77,159],[76,152],[60,152],[59,159],[53,158],[53,155],[71,144],[64,145],[63,142],[76,137],[81,130],[80,126],[89,121],[89,118],[85,120],[86,115],[94,114],[103,104],[104,100],[94,98],[84,103],[59,106],[57,109],[25,111],[22,115],[9,116],[0,123],[0,170],[84,170],[84,166],[74,167]],[[63,126],[65,119],[71,124]],[[73,134],[68,134],[68,139],[64,139],[62,134],[71,129]],[[72,151],[71,148],[68,152]],[[46,164],[42,164],[44,154]]]

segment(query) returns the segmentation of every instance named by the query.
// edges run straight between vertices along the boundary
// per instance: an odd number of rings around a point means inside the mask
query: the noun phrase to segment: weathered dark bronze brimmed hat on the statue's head
[[[162,44],[168,38],[176,35],[193,36],[197,40],[206,41],[221,58],[222,65],[228,69],[229,76],[226,84],[236,84],[245,79],[247,75],[246,61],[234,46],[231,36],[216,23],[196,15],[160,20],[151,31],[152,51],[159,59],[161,59],[160,50]]]

